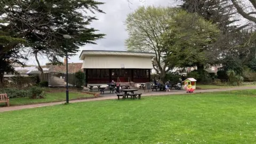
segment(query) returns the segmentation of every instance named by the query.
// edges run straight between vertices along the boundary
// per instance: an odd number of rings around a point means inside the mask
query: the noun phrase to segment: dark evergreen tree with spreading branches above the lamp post
[[[87,11],[103,12],[98,5],[103,3],[95,1],[7,1],[0,2],[0,13],[9,22],[6,29],[13,30],[27,40],[22,45],[35,55],[39,70],[43,69],[37,59],[38,55],[45,55],[50,62],[60,63],[59,58],[68,51],[74,55],[79,46],[86,43],[95,44],[94,41],[102,38],[103,34],[95,34],[97,30],[88,28],[95,17],[87,14]],[[18,7],[13,9],[13,7]],[[24,21],[26,18],[27,21]],[[71,35],[66,44],[62,35]],[[12,48],[11,48],[12,49]],[[7,51],[10,49],[7,49]]]

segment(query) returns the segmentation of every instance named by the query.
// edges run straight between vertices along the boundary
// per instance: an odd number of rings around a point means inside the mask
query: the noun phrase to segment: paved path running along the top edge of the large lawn
[[[244,87],[234,87],[234,88],[227,88],[227,89],[213,89],[213,90],[195,90],[194,93],[204,93],[204,92],[221,92],[221,91],[233,91],[233,90],[251,90],[256,89],[256,86],[244,86]],[[179,92],[149,92],[143,93],[141,96],[158,96],[158,95],[171,95],[171,94],[187,94],[186,91],[179,91]],[[97,101],[97,100],[110,100],[110,99],[117,99],[116,95],[109,95],[107,97],[100,97],[94,99],[84,99],[84,100],[70,100],[70,103],[76,102],[85,102],[85,101]],[[24,105],[24,106],[11,106],[11,107],[2,107],[0,108],[0,113],[4,111],[12,111],[12,110],[20,110],[20,109],[27,109],[27,108],[37,108],[37,107],[45,107],[45,106],[54,106],[60,105],[65,103],[62,102],[51,102],[51,103],[40,103],[35,105]]]

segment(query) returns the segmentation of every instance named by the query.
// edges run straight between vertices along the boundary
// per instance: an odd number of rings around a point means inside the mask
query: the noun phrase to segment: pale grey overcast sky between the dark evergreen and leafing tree
[[[178,2],[176,0],[130,0],[132,4],[129,5],[127,0],[99,0],[105,2],[100,6],[100,9],[105,11],[106,14],[96,13],[96,17],[99,19],[93,21],[91,27],[98,29],[99,33],[106,34],[105,38],[98,40],[97,45],[85,45],[81,47],[82,50],[112,50],[112,51],[124,51],[126,47],[124,45],[125,39],[128,37],[124,21],[126,15],[133,12],[141,5],[155,5],[155,6],[174,6]],[[129,7],[130,6],[130,7]],[[82,62],[79,60],[79,51],[76,56],[71,57],[69,62]],[[45,65],[47,60],[43,57],[39,58],[41,65]],[[35,58],[30,58],[27,65],[37,65]]]

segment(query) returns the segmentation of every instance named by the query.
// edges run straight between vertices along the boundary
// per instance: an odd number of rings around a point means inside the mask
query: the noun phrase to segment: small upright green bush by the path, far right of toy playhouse
[[[244,78],[240,75],[237,75],[234,70],[228,70],[228,84],[233,86],[239,86],[243,83]]]

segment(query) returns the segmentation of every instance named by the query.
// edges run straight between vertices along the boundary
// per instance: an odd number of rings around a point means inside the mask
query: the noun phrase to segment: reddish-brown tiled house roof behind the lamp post
[[[68,73],[76,73],[81,70],[83,63],[68,63]],[[52,66],[51,72],[66,73],[66,65]]]

